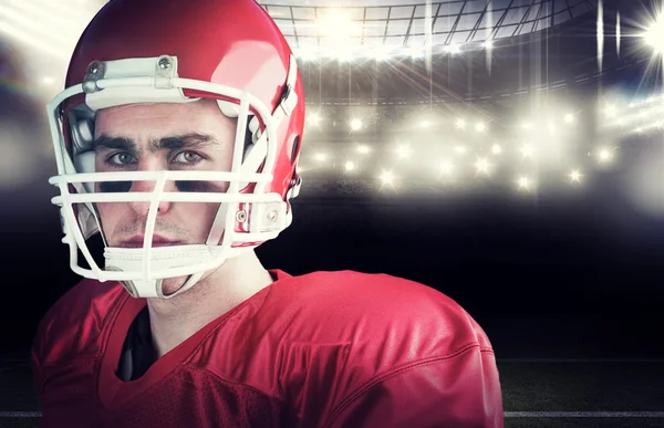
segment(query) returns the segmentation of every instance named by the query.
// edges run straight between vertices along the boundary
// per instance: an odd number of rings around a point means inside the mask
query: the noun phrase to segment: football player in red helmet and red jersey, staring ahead
[[[502,427],[491,344],[453,300],[258,260],[291,223],[304,94],[255,0],[112,0],[65,87],[51,184],[85,279],[34,340],[42,427]]]

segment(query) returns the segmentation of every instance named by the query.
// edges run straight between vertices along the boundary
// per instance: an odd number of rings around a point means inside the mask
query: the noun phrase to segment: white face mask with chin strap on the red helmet
[[[270,187],[278,160],[279,127],[288,122],[284,119],[291,115],[299,102],[293,90],[297,65],[292,55],[284,82],[284,96],[273,113],[258,97],[246,91],[206,81],[181,79],[177,69],[177,58],[168,55],[95,61],[90,64],[81,84],[68,87],[48,105],[58,163],[58,176],[50,178],[49,182],[60,189],[60,196],[54,197],[52,202],[61,207],[65,234],[63,242],[70,247],[71,269],[82,276],[102,282],[120,281],[134,297],[173,297],[190,289],[206,271],[220,267],[229,258],[245,253],[267,240],[274,239],[292,221],[289,198],[297,196],[301,185],[301,179],[292,180],[284,192],[286,197]],[[225,115],[237,117],[230,171],[94,170],[94,156],[91,156],[94,132],[91,129],[98,109],[134,103],[186,103],[200,100],[185,96],[186,90],[216,98]],[[72,97],[81,96],[84,96],[84,103],[63,114],[63,104]],[[250,144],[246,146],[248,132],[251,133],[251,138]],[[170,180],[228,181],[229,187],[225,192],[165,191],[166,182]],[[114,181],[154,181],[155,187],[153,191],[147,192],[95,192],[92,189],[94,186],[91,187],[91,184],[95,182]],[[253,191],[242,192],[248,185],[253,185]],[[101,232],[95,205],[136,201],[149,202],[143,247],[106,246],[105,269],[101,269],[85,242],[92,234]],[[160,202],[219,203],[206,242],[153,248]],[[79,250],[90,269],[79,264]],[[172,278],[186,278],[186,281],[177,291],[164,294],[163,280]]]

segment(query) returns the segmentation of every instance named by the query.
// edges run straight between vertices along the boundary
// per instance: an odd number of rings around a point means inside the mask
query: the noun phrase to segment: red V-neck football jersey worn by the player
[[[82,281],[34,341],[42,427],[504,426],[491,345],[445,294],[385,274],[270,273],[129,382],[120,354],[146,301]]]

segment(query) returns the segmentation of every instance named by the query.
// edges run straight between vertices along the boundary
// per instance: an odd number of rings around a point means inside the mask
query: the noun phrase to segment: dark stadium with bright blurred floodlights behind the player
[[[0,1],[0,426],[39,418],[27,351],[77,280],[44,106],[103,3]],[[664,426],[662,4],[260,3],[308,96],[302,192],[264,264],[452,296],[494,343],[507,426]]]

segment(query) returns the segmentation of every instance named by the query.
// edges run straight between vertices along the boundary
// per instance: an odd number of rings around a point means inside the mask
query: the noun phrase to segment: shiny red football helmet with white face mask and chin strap
[[[294,56],[269,14],[255,0],[113,0],[92,20],[71,60],[65,90],[48,106],[60,189],[63,242],[74,272],[121,281],[133,296],[169,297],[230,257],[276,238],[292,219],[289,199],[304,125],[304,95]],[[237,117],[229,171],[95,173],[97,111],[134,103],[216,100]],[[152,192],[95,192],[95,182],[154,181]],[[225,192],[164,191],[166,180],[227,181]],[[106,246],[105,268],[86,239],[101,232],[102,202],[149,201],[143,248]],[[205,243],[152,248],[159,201],[216,202]],[[103,238],[103,232],[102,232]],[[90,269],[79,264],[81,249]],[[164,295],[162,280],[188,276]]]

